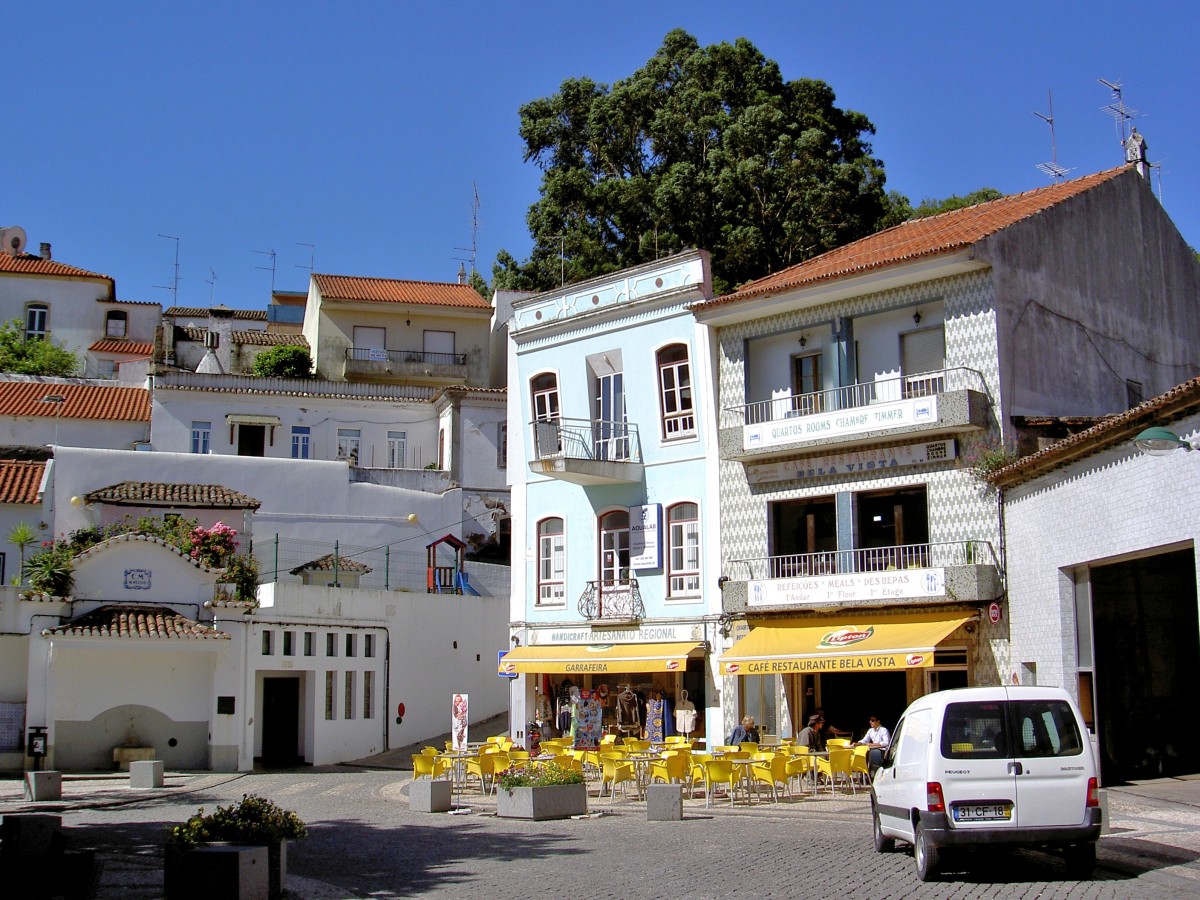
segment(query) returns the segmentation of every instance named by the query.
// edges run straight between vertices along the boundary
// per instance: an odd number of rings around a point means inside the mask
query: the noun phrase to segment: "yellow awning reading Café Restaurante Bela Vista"
[[[974,613],[914,612],[772,619],[721,656],[721,674],[882,672],[934,665],[934,648]]]

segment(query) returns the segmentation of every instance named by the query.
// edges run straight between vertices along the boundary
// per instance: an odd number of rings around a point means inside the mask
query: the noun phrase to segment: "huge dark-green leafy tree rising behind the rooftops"
[[[862,113],[820,80],[785,82],[738,38],[701,47],[674,30],[629,78],[563,82],[521,108],[526,160],[542,170],[518,263],[493,287],[546,289],[684,247],[713,253],[719,290],[856,240],[893,198]]]

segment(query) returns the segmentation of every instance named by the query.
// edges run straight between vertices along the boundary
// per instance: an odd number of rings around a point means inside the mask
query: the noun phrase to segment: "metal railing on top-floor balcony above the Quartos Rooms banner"
[[[978,390],[986,394],[988,385],[982,373],[964,366],[911,376],[892,376],[874,382],[850,384],[845,388],[812,391],[811,394],[793,394],[773,400],[760,400],[740,407],[726,407],[721,415],[721,427],[761,425],[781,419],[853,409],[872,403],[931,397],[954,390]]]

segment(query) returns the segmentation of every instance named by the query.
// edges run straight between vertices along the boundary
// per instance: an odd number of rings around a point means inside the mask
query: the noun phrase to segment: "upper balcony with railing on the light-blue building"
[[[628,485],[642,480],[637,426],[590,419],[538,420],[529,470],[576,485]]]

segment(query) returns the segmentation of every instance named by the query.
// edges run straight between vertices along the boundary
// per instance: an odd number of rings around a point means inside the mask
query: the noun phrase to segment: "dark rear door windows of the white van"
[[[949,703],[942,720],[947,760],[1078,756],[1084,751],[1070,706],[1061,700]]]

